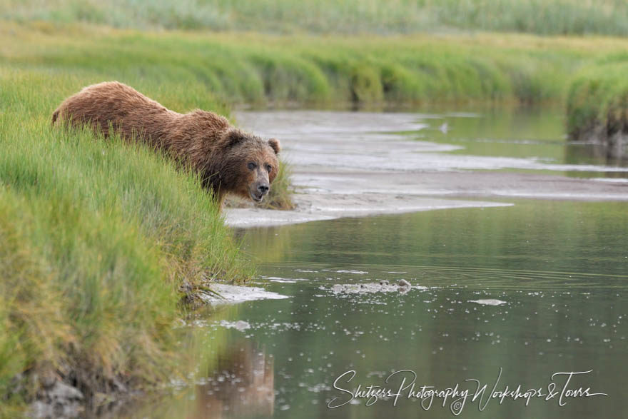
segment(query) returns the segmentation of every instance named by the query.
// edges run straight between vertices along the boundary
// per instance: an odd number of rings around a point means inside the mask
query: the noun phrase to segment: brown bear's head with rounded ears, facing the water
[[[218,178],[221,191],[260,202],[279,171],[279,141],[231,128],[223,137]],[[218,179],[216,179],[218,180]]]

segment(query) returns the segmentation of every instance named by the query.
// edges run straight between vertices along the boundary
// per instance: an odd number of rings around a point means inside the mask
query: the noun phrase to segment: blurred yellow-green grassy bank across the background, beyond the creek
[[[42,23],[5,26],[1,37],[2,66],[118,79],[140,90],[176,81],[201,108],[207,91],[253,106],[562,101],[574,71],[628,46],[525,35],[282,37]]]

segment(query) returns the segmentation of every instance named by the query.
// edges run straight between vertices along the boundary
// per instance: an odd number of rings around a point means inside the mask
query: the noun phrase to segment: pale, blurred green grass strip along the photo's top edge
[[[628,35],[628,4],[623,0],[0,0],[3,18],[273,33]]]

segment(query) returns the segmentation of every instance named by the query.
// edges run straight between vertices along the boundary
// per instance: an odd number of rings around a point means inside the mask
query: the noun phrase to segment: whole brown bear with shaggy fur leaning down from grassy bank
[[[52,114],[53,125],[89,124],[108,136],[139,139],[191,164],[203,186],[221,204],[226,193],[261,201],[279,170],[279,141],[234,128],[223,116],[197,109],[181,114],[148,99],[126,84],[108,81],[87,86]]]

